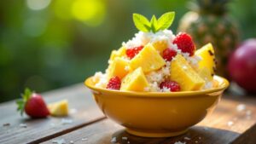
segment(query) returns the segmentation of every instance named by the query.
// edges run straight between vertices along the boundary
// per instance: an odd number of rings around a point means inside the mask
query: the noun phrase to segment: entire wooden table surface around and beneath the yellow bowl
[[[15,101],[0,104],[0,144],[256,144],[256,96],[224,94],[216,110],[185,135],[143,138],[106,118],[83,84],[44,93],[47,102],[69,101],[66,118],[20,117]]]

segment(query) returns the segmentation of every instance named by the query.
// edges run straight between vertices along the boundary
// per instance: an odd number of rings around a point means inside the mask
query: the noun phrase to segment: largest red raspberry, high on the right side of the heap
[[[177,34],[173,43],[177,44],[177,48],[181,49],[183,53],[189,53],[189,56],[194,55],[195,44],[189,34],[184,32]]]

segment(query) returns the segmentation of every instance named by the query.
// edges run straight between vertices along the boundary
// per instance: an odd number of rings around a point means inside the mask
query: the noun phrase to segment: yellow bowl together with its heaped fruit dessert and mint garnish
[[[213,111],[229,85],[214,76],[212,44],[196,50],[189,34],[166,30],[173,18],[134,14],[140,32],[112,51],[105,73],[84,82],[102,112],[132,135],[183,134]]]

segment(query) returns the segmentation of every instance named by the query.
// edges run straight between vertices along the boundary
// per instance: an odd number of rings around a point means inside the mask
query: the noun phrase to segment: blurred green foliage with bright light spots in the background
[[[0,2],[0,102],[25,87],[38,92],[81,83],[104,71],[112,49],[137,32],[132,13],[187,12],[185,0],[3,0]],[[230,3],[242,38],[255,37],[256,1]]]

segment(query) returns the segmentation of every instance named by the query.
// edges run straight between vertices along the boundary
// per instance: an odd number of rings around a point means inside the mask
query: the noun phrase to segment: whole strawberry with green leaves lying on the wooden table
[[[32,118],[44,118],[49,115],[49,110],[41,95],[32,92],[30,89],[25,89],[22,99],[16,101],[22,116],[25,111]]]

